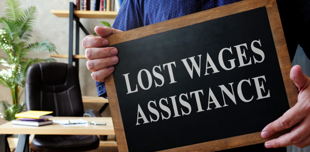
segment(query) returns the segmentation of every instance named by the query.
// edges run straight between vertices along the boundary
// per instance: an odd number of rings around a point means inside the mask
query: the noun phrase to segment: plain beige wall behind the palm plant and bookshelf
[[[44,39],[49,39],[57,47],[59,54],[68,54],[69,48],[69,18],[59,18],[50,13],[54,10],[69,10],[69,2],[75,0],[20,0],[23,8],[36,6],[38,10],[38,19],[33,27],[33,38],[31,42],[41,42]],[[0,17],[4,16],[5,0],[0,0]],[[94,28],[97,25],[102,25],[100,21],[107,21],[111,25],[113,19],[80,19],[80,22],[90,34],[94,33]],[[85,49],[82,47],[82,39],[86,35],[80,30],[80,54],[84,54]],[[74,49],[74,48],[73,48]],[[0,49],[0,56],[5,56]],[[49,58],[48,52],[30,52],[31,58]],[[55,58],[58,62],[68,63],[68,59]],[[0,70],[3,67],[0,65]],[[91,78],[91,72],[86,68],[86,59],[81,59],[79,63],[79,78],[81,91],[83,96],[97,96],[95,81]],[[11,102],[11,92],[8,88],[0,86],[0,101],[7,100]],[[21,98],[24,100],[24,95]]]

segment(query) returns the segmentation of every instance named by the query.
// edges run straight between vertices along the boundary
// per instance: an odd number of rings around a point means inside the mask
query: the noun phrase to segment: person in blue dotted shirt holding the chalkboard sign
[[[105,47],[109,42],[102,37],[237,1],[124,1],[113,24],[113,28],[97,26],[95,32],[100,37],[89,35],[82,42],[83,47],[86,48],[85,56],[89,60],[87,61],[87,67],[93,71],[91,74],[93,79],[98,81],[96,82],[98,95],[106,97],[104,78],[113,72],[113,65],[118,62],[118,58],[115,56],[117,55],[117,49],[114,47]],[[293,60],[298,44],[303,47],[306,55],[309,56],[309,46],[307,45],[310,39],[309,28],[306,27],[309,18],[307,17],[307,13],[302,13],[307,12],[307,9],[309,9],[306,1],[278,1],[278,8],[291,60]],[[292,29],[302,32],[296,32]],[[267,125],[263,129],[261,136],[267,138],[275,132],[292,127],[295,124],[299,125],[290,133],[267,141],[265,144],[251,145],[226,151],[286,151],[286,148],[267,150],[263,146],[267,148],[278,148],[294,144],[299,147],[305,147],[310,144],[310,121],[308,121],[310,117],[310,98],[308,93],[310,78],[302,73],[299,66],[294,66],[291,69],[290,77],[299,88],[298,103],[282,117]]]

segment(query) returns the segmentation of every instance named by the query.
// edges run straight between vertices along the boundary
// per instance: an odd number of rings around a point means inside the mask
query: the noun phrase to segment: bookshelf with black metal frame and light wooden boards
[[[107,1],[109,3],[109,1]],[[108,4],[109,6],[109,4]],[[57,17],[69,18],[69,52],[68,54],[51,54],[51,57],[57,58],[68,58],[68,64],[73,65],[75,62],[75,67],[79,71],[79,59],[86,59],[85,55],[79,55],[79,35],[80,28],[86,35],[90,35],[88,31],[80,22],[80,18],[97,18],[97,19],[115,19],[117,16],[116,11],[77,11],[76,5],[73,2],[69,4],[69,10],[51,10],[51,13]],[[73,55],[73,24],[75,21],[75,55]],[[83,103],[104,103],[104,105],[99,110],[100,114],[109,105],[108,100],[97,96],[82,96]]]

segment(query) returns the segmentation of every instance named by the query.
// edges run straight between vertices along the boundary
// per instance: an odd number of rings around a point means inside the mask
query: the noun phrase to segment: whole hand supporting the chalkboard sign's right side
[[[290,78],[298,87],[298,102],[290,110],[287,110],[283,116],[269,123],[263,129],[261,136],[267,138],[295,124],[297,126],[290,133],[265,142],[266,148],[278,148],[289,145],[303,148],[310,145],[310,78],[303,74],[299,65],[295,65],[291,69]]]

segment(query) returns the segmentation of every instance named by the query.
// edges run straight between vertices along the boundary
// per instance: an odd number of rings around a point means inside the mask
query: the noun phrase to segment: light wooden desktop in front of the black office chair
[[[0,134],[41,135],[115,135],[111,117],[53,117],[50,120],[83,119],[107,125],[64,126],[57,123],[46,126],[14,125],[12,121],[0,126]]]

